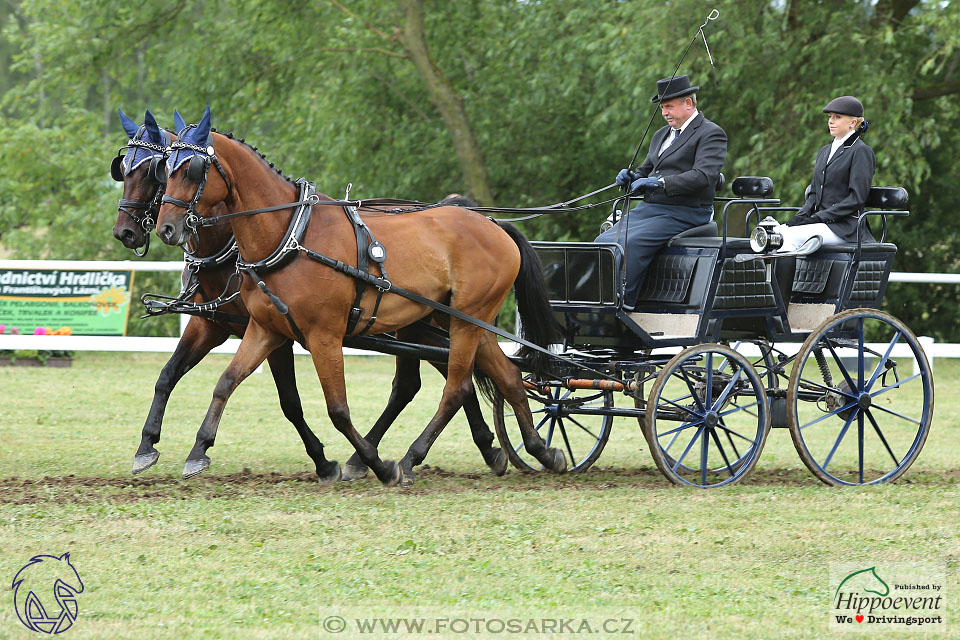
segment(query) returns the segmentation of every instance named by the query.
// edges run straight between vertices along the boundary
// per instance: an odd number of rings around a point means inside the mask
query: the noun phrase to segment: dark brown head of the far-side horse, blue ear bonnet
[[[173,138],[160,128],[149,110],[139,126],[123,111],[118,109],[118,112],[120,124],[129,141],[110,167],[113,179],[123,183],[123,196],[117,204],[113,236],[128,249],[149,248],[150,231],[155,225],[167,179],[164,160]],[[144,249],[138,255],[146,255],[146,252],[147,249]]]

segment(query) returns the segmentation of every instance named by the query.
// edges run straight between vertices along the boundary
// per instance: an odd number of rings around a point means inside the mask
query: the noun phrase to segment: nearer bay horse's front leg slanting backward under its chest
[[[400,470],[393,460],[381,460],[376,445],[364,439],[350,420],[347,406],[347,384],[343,375],[343,345],[334,336],[320,339],[307,337],[313,365],[323,387],[327,402],[327,415],[337,431],[346,436],[356,450],[360,462],[373,470],[384,486],[392,487],[400,481]]]

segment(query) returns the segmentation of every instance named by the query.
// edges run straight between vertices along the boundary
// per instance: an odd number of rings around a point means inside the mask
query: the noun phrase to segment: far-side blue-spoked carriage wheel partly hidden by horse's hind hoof
[[[613,426],[613,416],[603,413],[613,407],[612,391],[550,387],[543,395],[527,389],[527,402],[537,433],[548,447],[567,456],[568,473],[586,471],[596,462]],[[493,425],[514,467],[524,472],[543,471],[543,465],[527,452],[513,407],[500,393],[494,399]]]

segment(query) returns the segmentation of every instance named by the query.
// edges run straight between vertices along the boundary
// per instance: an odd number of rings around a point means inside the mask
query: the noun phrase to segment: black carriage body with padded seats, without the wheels
[[[896,245],[829,247],[737,262],[746,238],[674,238],[654,258],[632,312],[622,308],[616,244],[534,242],[551,305],[571,346],[621,351],[721,339],[803,339],[849,308],[879,308]]]

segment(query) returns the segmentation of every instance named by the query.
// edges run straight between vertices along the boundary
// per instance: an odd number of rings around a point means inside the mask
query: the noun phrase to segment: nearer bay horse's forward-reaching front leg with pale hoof
[[[220,425],[220,418],[223,416],[223,409],[226,407],[227,400],[233,391],[243,382],[247,376],[253,373],[259,367],[266,357],[281,346],[286,340],[284,336],[272,333],[264,329],[255,320],[250,320],[240,341],[240,347],[236,355],[227,366],[226,370],[220,375],[217,386],[213,390],[213,400],[207,409],[207,415],[203,418],[203,424],[197,431],[197,440],[187,456],[187,462],[183,467],[183,477],[192,478],[203,473],[210,468],[210,458],[207,457],[207,449],[213,446],[217,438],[217,427]]]

